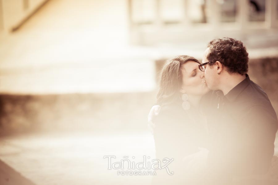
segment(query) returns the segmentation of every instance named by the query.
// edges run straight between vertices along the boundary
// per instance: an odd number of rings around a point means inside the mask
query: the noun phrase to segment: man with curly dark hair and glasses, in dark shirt
[[[209,42],[199,67],[213,90],[204,113],[214,181],[263,182],[274,153],[277,116],[266,93],[250,80],[248,60],[241,41],[222,38]]]

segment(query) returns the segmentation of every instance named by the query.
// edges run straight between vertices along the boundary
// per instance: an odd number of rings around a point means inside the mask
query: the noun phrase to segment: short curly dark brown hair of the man
[[[228,72],[244,75],[248,72],[248,53],[240,40],[224,37],[208,43],[210,65],[220,61]]]

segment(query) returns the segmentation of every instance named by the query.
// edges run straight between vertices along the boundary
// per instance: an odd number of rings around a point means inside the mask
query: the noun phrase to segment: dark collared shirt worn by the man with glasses
[[[227,95],[210,91],[203,98],[212,176],[231,179],[266,173],[274,153],[278,121],[262,88],[246,74]]]

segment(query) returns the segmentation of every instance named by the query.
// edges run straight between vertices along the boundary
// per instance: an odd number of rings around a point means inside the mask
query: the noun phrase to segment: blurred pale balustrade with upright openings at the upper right
[[[277,37],[277,0],[129,0],[134,44]],[[269,43],[270,44],[270,43]],[[271,45],[271,44],[270,44]],[[272,46],[277,46],[277,38]],[[263,46],[258,46],[263,47]]]

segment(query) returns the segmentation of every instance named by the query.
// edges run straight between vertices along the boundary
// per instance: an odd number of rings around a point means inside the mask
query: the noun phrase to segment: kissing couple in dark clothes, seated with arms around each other
[[[278,121],[267,94],[250,80],[240,40],[208,43],[202,63],[165,61],[157,103],[148,116],[156,158],[173,158],[153,184],[277,184]]]

